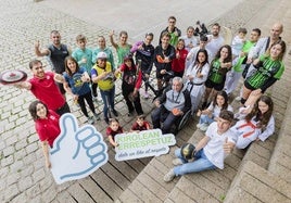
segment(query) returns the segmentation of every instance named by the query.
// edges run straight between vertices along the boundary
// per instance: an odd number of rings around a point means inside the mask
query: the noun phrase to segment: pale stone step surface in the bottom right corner
[[[248,161],[224,202],[291,202],[290,191],[290,182]]]

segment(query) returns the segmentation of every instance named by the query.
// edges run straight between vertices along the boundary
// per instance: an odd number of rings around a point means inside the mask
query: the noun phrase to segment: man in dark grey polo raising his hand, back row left
[[[51,31],[52,43],[48,48],[40,50],[39,41],[35,45],[35,53],[37,56],[48,56],[52,63],[52,71],[58,74],[63,74],[65,72],[65,58],[71,55],[71,50],[66,45],[61,43],[61,35],[58,30]],[[62,94],[65,94],[63,84],[58,84],[59,89]]]

